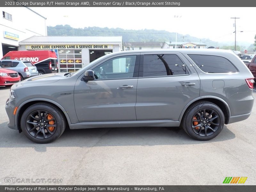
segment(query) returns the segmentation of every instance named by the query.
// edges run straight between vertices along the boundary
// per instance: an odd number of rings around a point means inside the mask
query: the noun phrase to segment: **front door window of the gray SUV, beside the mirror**
[[[132,78],[136,55],[116,57],[101,63],[94,71],[95,79]]]

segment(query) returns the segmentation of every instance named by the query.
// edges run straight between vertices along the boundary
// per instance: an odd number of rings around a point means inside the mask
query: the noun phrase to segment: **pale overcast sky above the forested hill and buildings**
[[[254,7],[33,7],[47,18],[47,26],[68,24],[74,28],[108,27],[156,29],[209,38],[212,41],[254,43],[256,34]],[[174,18],[174,15],[181,16]],[[244,32],[240,32],[244,31]],[[172,40],[173,41],[173,40]]]

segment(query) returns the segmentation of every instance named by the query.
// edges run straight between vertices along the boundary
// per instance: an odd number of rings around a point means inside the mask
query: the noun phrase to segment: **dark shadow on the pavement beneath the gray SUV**
[[[126,127],[80,129],[65,132],[56,141],[49,144],[34,143],[21,132],[0,124],[0,148],[32,147],[45,152],[47,147],[101,147],[101,146],[154,146],[189,145],[219,142],[234,139],[236,136],[225,125],[222,132],[209,141],[197,141],[190,138],[183,129],[174,127]]]

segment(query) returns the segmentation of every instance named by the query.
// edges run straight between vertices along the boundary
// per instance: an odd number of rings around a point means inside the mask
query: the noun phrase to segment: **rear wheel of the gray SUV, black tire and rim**
[[[184,114],[182,127],[196,140],[211,140],[223,129],[225,117],[222,110],[212,102],[199,101]]]

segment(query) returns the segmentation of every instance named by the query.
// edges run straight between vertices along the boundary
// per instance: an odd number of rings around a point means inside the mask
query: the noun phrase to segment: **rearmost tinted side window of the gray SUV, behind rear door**
[[[237,69],[226,58],[213,55],[188,55],[206,73],[235,73]]]

